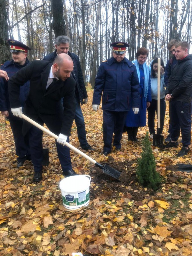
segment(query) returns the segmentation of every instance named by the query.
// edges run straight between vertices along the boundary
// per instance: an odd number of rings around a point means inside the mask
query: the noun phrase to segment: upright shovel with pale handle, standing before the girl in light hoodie
[[[153,134],[153,146],[163,148],[163,135],[161,135],[160,121],[160,93],[161,93],[161,59],[157,63],[157,134]]]

